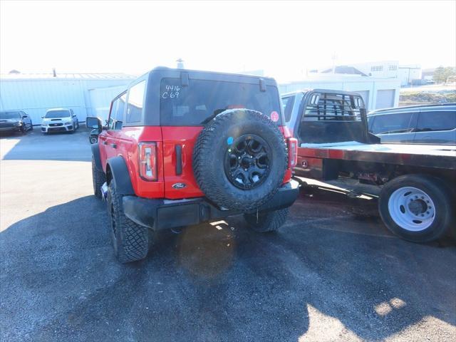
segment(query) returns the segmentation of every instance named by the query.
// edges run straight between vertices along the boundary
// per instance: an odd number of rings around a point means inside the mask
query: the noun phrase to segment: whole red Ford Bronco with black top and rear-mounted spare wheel
[[[155,68],[110,106],[92,145],[93,192],[108,202],[120,262],[146,257],[148,229],[244,214],[274,231],[299,194],[297,142],[271,78]]]

